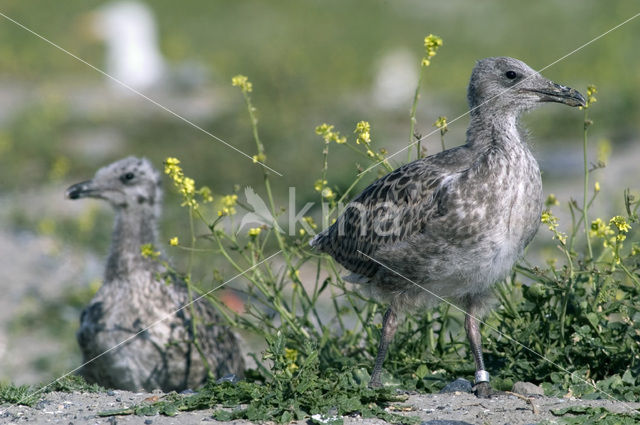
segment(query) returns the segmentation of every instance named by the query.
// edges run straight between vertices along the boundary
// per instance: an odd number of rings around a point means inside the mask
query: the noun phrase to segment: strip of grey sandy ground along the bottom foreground
[[[109,391],[101,394],[87,393],[49,393],[44,395],[35,407],[2,406],[0,407],[0,424],[200,424],[217,423],[212,418],[211,410],[198,412],[182,412],[174,417],[167,416],[117,416],[100,417],[98,412],[104,410],[126,408],[134,403],[140,403],[148,398],[162,397],[161,393],[130,393],[127,391]],[[408,415],[419,416],[423,424],[450,425],[469,424],[534,424],[543,420],[557,421],[559,418],[551,413],[552,409],[562,409],[569,406],[600,406],[612,412],[625,412],[631,408],[637,409],[640,403],[625,405],[620,402],[606,400],[576,400],[559,398],[532,398],[527,400],[512,396],[501,395],[491,399],[478,399],[469,393],[450,394],[413,394],[401,404],[397,404],[400,411],[410,406]],[[435,422],[429,422],[435,421]],[[234,421],[236,424],[246,424],[246,421]],[[298,422],[305,423],[303,421]],[[384,424],[379,419],[363,419],[360,416],[344,418],[345,425],[351,424]]]

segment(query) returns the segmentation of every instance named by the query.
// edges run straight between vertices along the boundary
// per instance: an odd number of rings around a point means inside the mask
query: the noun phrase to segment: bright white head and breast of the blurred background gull
[[[105,4],[95,14],[94,31],[106,43],[106,72],[112,77],[135,90],[150,88],[165,77],[155,18],[146,4]]]

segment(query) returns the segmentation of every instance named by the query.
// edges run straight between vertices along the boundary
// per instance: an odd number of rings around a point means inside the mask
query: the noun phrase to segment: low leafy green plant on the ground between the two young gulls
[[[237,383],[209,382],[197,394],[169,394],[154,403],[101,412],[101,416],[156,415],[173,416],[181,411],[215,409],[219,421],[245,419],[252,422],[289,423],[324,416],[324,423],[342,423],[342,416],[357,413],[388,423],[417,424],[419,418],[385,410],[392,402],[406,400],[389,388],[367,387],[369,375],[360,369],[320,369],[318,350],[310,341],[296,361],[286,347],[281,332],[267,337],[264,360],[271,363],[268,376],[255,374],[257,380]],[[298,357],[297,355],[295,356]],[[264,382],[260,382],[264,380]]]

